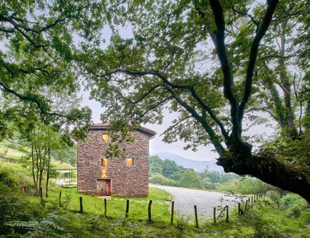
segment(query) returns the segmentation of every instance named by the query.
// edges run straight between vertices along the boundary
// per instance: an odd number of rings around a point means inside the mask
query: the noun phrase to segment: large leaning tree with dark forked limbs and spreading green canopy
[[[261,122],[259,111],[279,123],[285,144],[308,132],[301,120],[309,110],[309,2],[110,2],[111,25],[131,28],[133,36],[124,39],[113,27],[106,50],[89,46],[80,55],[91,95],[107,109],[102,119],[160,123],[167,107],[179,118],[165,141],[183,139],[194,149],[212,143],[226,172],[254,176],[310,202],[308,165],[254,152],[253,138],[244,133],[249,122]],[[300,90],[293,91],[299,78]]]

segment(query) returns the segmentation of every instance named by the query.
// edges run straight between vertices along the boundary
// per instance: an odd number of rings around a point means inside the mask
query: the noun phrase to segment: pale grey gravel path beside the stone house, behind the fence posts
[[[235,202],[232,202],[234,198],[224,197],[225,194],[220,192],[209,192],[190,188],[179,188],[153,184],[150,185],[150,187],[156,187],[168,191],[172,195],[175,209],[178,211],[178,213],[184,215],[194,215],[194,205],[196,205],[197,213],[199,216],[211,218],[213,217],[213,208],[221,204],[221,197],[224,200],[229,200],[223,201],[222,207],[226,205],[229,207],[236,205]]]

